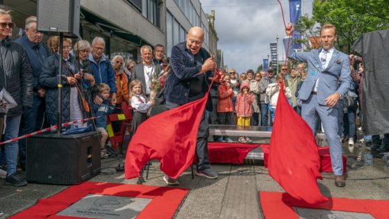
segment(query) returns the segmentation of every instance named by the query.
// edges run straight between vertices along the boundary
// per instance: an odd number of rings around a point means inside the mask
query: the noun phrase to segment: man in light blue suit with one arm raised
[[[292,24],[288,24],[285,31],[290,35]],[[333,47],[337,38],[336,27],[324,24],[320,31],[321,49],[297,53],[292,49],[292,39],[285,38],[283,44],[287,49],[289,42],[288,58],[308,64],[306,79],[299,90],[301,117],[311,127],[313,134],[316,133],[315,127],[320,117],[329,143],[335,185],[343,187],[346,182],[343,176],[342,143],[338,136],[337,108],[338,100],[349,88],[351,77],[349,57]]]

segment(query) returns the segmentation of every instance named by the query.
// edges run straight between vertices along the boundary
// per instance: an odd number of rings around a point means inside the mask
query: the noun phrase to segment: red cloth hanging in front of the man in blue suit
[[[283,88],[283,83],[280,86]],[[275,116],[270,138],[270,176],[297,200],[310,204],[325,202],[328,199],[317,186],[317,179],[322,176],[315,138],[284,92],[279,94]]]

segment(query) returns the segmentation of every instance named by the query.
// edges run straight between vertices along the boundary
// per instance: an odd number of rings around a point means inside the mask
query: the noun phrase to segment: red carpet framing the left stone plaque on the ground
[[[10,218],[76,218],[56,216],[56,213],[81,200],[88,194],[115,195],[122,197],[142,197],[152,199],[137,218],[172,218],[179,204],[188,193],[186,188],[169,188],[158,186],[109,184],[86,181],[77,186],[70,186],[62,192],[17,213]]]

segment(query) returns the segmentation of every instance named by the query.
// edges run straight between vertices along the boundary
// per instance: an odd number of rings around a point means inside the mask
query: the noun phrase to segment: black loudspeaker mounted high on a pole
[[[64,33],[78,38],[80,29],[80,0],[38,0],[38,31]]]

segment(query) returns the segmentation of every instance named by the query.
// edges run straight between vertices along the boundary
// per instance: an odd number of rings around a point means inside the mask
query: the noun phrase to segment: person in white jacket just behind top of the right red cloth
[[[274,116],[276,113],[277,100],[279,99],[279,90],[280,90],[281,81],[282,81],[281,74],[277,74],[276,83],[270,83],[269,86],[267,86],[267,88],[266,88],[266,97],[267,97],[268,102],[269,102],[269,110],[272,112],[271,119],[273,122],[274,122]],[[292,92],[290,91],[290,89],[288,87],[285,86],[285,84],[283,85],[283,91],[285,92],[286,98],[289,100],[289,104],[291,104],[290,98],[292,97]]]

